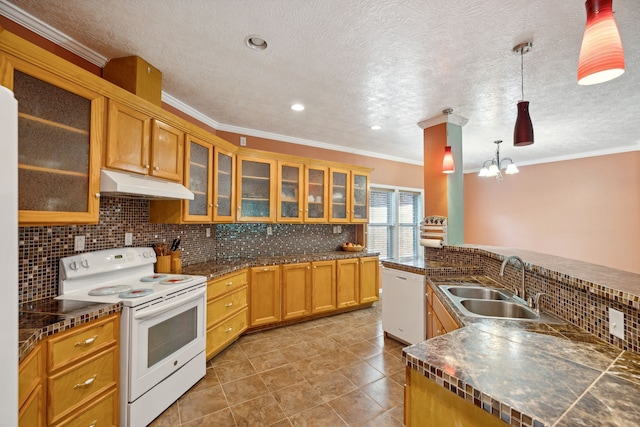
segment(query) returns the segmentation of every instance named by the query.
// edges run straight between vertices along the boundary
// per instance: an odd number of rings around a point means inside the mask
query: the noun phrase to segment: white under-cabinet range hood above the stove
[[[106,169],[100,171],[100,194],[144,199],[193,200],[193,193],[177,182]]]

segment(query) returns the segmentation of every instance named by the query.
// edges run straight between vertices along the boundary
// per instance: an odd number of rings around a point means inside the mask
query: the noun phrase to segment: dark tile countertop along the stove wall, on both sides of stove
[[[183,268],[184,274],[206,276],[208,279],[237,270],[264,265],[325,261],[346,258],[378,256],[373,252],[332,251],[310,254],[273,255],[258,258],[229,258],[192,264]],[[21,304],[18,307],[18,357],[22,361],[44,338],[92,320],[119,313],[122,305],[96,304],[81,301],[45,298]]]

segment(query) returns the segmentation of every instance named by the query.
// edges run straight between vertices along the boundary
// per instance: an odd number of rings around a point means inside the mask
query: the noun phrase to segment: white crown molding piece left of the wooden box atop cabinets
[[[8,3],[6,0],[0,0],[2,5],[2,14],[17,24],[22,25],[28,30],[33,31],[39,36],[57,44],[58,46],[78,55],[79,57],[86,59],[94,65],[102,68],[107,63],[108,59],[105,56],[100,55],[96,51],[89,49],[83,44],[78,43],[66,34],[56,30],[50,25],[42,22],[33,15],[28,14],[24,10]]]

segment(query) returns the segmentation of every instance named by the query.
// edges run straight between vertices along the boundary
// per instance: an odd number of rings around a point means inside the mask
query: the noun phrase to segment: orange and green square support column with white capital
[[[467,119],[444,110],[443,115],[418,123],[424,129],[424,213],[447,217],[448,243],[464,243],[462,127]],[[442,172],[444,147],[451,147],[455,171]]]

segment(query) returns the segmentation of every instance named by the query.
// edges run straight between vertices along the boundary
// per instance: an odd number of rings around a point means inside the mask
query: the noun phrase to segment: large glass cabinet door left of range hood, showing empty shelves
[[[43,74],[42,72],[38,75]],[[18,191],[21,224],[98,222],[99,147],[92,126],[104,98],[57,77],[16,70]],[[95,148],[94,148],[95,147]]]

